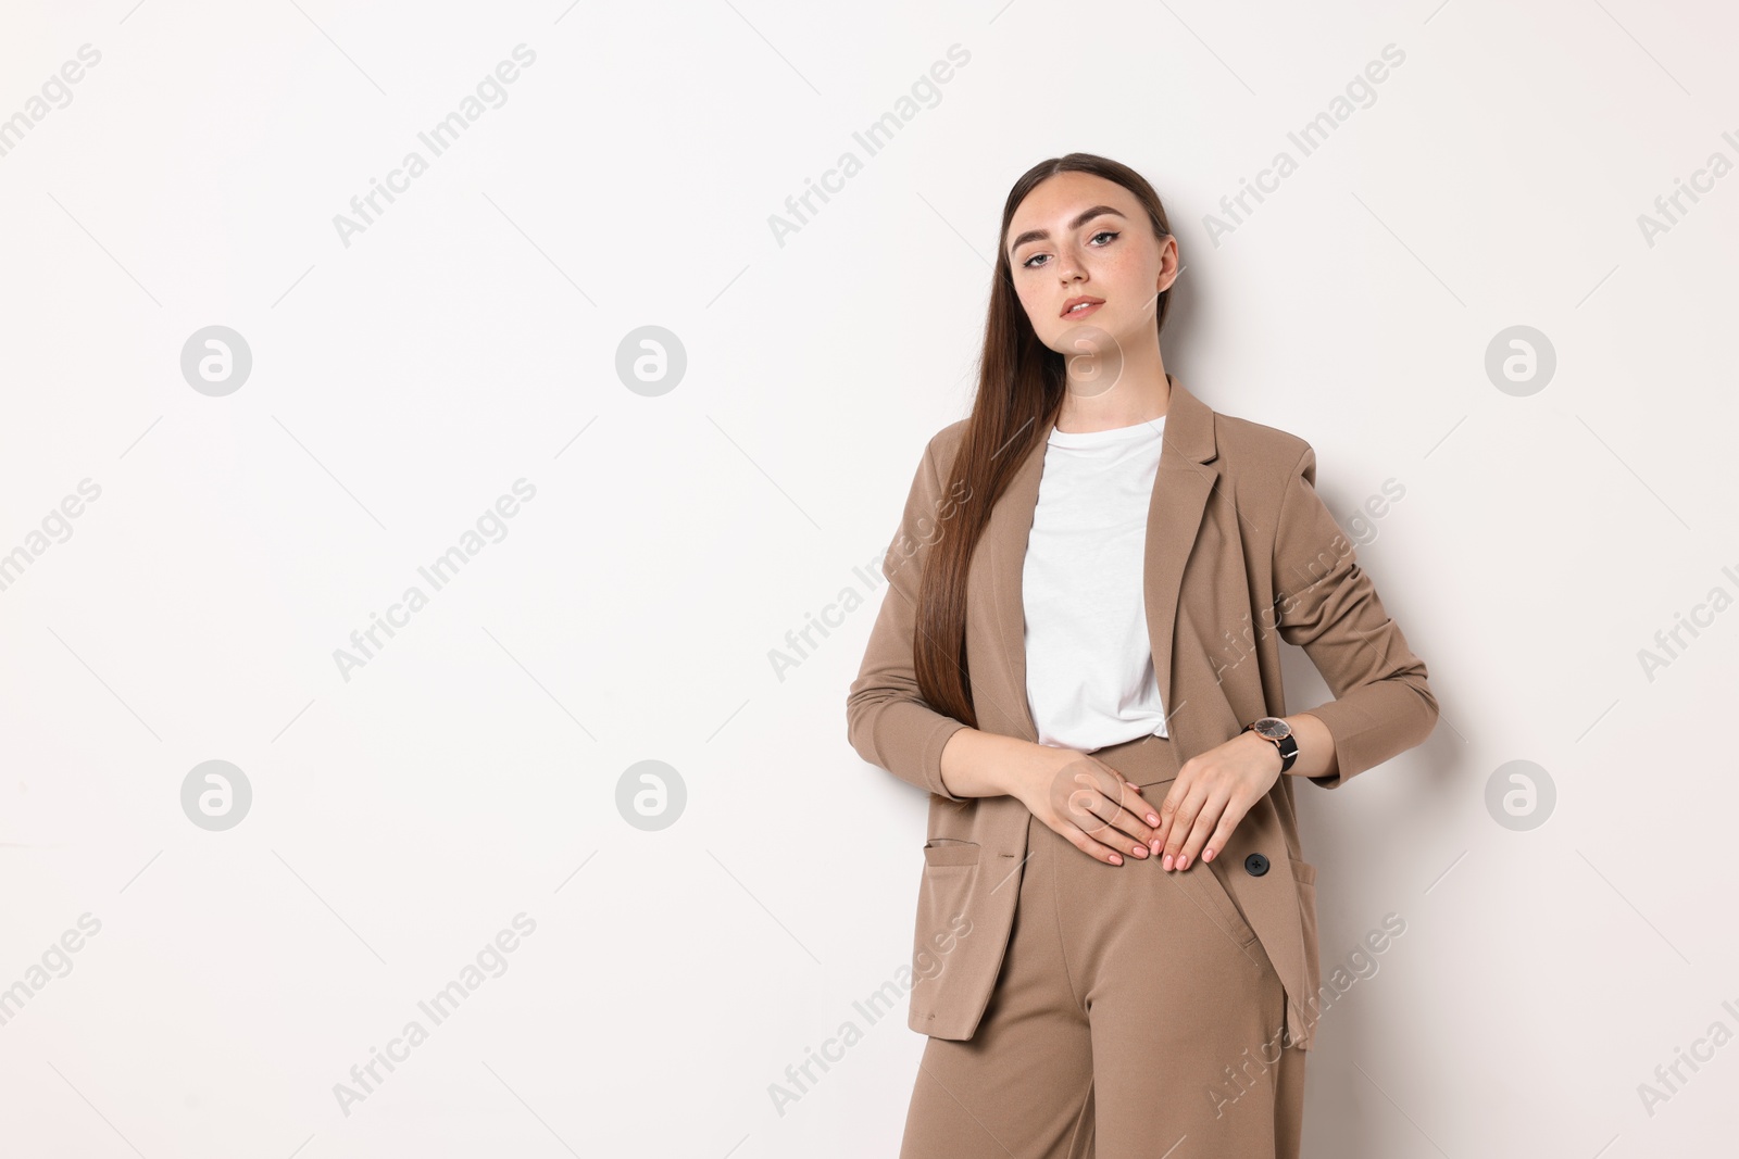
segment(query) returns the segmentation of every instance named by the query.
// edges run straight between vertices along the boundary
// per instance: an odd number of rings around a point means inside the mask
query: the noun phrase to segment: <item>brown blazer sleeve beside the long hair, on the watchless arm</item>
[[[943,745],[965,723],[923,702],[911,653],[918,579],[930,544],[949,527],[951,511],[943,500],[932,440],[911,480],[899,532],[882,558],[887,587],[857,679],[845,697],[845,735],[871,765],[949,801],[963,801],[943,785]]]

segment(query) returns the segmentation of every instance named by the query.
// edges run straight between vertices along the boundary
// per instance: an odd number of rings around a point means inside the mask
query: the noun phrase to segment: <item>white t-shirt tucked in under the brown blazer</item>
[[[1021,572],[1038,742],[1092,752],[1165,737],[1143,560],[1165,419],[1052,429]]]

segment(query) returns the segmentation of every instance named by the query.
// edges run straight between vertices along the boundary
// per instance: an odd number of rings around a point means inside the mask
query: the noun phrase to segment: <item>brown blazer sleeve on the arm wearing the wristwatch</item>
[[[1337,765],[1313,784],[1339,789],[1431,735],[1438,705],[1424,660],[1383,610],[1353,540],[1316,495],[1316,452],[1308,445],[1280,504],[1273,584],[1280,638],[1304,648],[1336,697],[1304,709],[1329,726]]]

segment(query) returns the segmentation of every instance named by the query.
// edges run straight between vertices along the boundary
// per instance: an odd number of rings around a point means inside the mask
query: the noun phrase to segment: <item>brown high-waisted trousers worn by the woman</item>
[[[1096,758],[1158,808],[1163,737]],[[1036,818],[969,1041],[929,1039],[901,1159],[1297,1159],[1304,1051],[1217,864],[1097,862]]]

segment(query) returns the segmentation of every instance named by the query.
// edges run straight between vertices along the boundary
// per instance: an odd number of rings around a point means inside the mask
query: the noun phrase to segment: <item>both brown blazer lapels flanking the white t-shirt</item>
[[[1153,480],[1148,500],[1148,539],[1143,553],[1143,596],[1148,613],[1148,643],[1153,648],[1153,671],[1160,681],[1160,699],[1167,719],[1183,707],[1172,695],[1172,636],[1177,622],[1177,593],[1183,584],[1184,561],[1202,528],[1209,492],[1219,481],[1219,467],[1212,464],[1214,412],[1184,389],[1177,375],[1167,375],[1172,384],[1170,405],[1165,412],[1160,469]],[[1045,424],[1038,445],[1016,469],[1009,490],[991,511],[989,527],[979,547],[989,553],[991,591],[995,599],[995,645],[1002,653],[1003,688],[991,695],[996,704],[1012,704],[1007,712],[1026,740],[1036,744],[1038,728],[1026,700],[1026,610],[1021,594],[1021,575],[1026,568],[1026,544],[1033,530],[1033,513],[1038,507],[1038,483],[1045,469],[1045,443],[1056,424]],[[979,674],[974,674],[974,679]],[[988,674],[986,674],[988,676]]]

